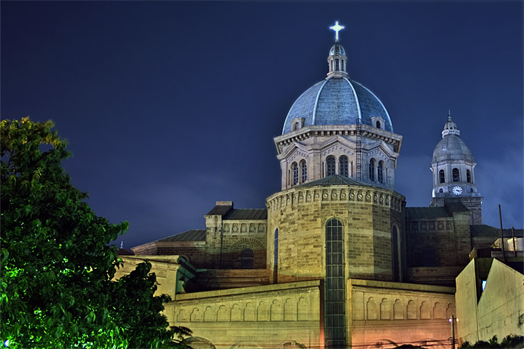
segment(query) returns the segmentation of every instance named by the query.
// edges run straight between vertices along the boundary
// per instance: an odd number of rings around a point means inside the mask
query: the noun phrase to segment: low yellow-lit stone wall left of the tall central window
[[[166,306],[170,325],[189,327],[217,349],[282,343],[319,347],[320,283],[305,281],[176,295]]]

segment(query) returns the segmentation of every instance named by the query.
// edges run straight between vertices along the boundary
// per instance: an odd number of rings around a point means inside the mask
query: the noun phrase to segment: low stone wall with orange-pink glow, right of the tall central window
[[[394,348],[393,343],[449,348],[454,288],[350,279],[347,289],[354,348]]]

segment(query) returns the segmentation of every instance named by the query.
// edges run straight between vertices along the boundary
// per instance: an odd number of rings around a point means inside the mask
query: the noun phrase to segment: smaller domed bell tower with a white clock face
[[[442,207],[446,202],[462,202],[472,212],[471,224],[482,224],[481,193],[476,190],[475,168],[471,150],[460,138],[457,124],[448,114],[442,131],[442,140],[433,151],[433,193],[431,207]]]

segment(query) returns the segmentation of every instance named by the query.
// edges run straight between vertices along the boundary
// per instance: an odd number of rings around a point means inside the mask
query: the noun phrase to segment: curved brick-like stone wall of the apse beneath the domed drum
[[[344,225],[346,275],[361,279],[392,279],[391,229],[402,232],[405,198],[372,186],[296,187],[270,196],[268,265],[275,271],[275,229],[279,229],[277,280],[321,279],[325,275],[326,222]]]

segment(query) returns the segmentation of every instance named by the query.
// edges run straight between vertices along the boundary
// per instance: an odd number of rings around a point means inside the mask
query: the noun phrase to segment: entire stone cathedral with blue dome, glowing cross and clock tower
[[[472,152],[444,115],[431,205],[406,207],[395,192],[402,135],[347,59],[336,40],[327,77],[285,117],[282,191],[266,209],[217,201],[205,229],[122,256],[121,274],[152,262],[173,299],[165,314],[193,331],[193,348],[449,346],[455,278],[495,229],[481,223]]]

